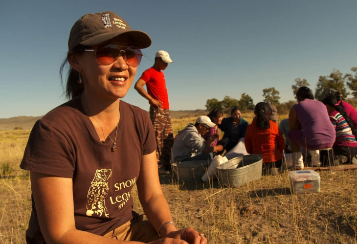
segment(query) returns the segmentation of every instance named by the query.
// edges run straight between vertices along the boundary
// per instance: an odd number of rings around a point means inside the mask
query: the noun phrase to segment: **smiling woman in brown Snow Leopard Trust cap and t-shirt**
[[[32,188],[28,243],[207,242],[192,228],[176,229],[159,184],[149,116],[121,100],[140,63],[139,48],[150,44],[146,33],[110,11],[73,25],[72,99],[36,122],[21,163]],[[150,222],[132,212],[135,184]]]

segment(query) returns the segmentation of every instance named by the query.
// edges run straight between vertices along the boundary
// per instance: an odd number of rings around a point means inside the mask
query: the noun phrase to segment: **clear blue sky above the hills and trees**
[[[171,110],[204,109],[225,95],[254,104],[275,87],[280,102],[305,78],[357,66],[356,0],[12,0],[0,7],[0,118],[44,115],[66,101],[59,67],[70,28],[86,13],[111,10],[153,44],[135,81],[157,50],[174,63],[164,71]],[[123,99],[148,110],[134,88]]]

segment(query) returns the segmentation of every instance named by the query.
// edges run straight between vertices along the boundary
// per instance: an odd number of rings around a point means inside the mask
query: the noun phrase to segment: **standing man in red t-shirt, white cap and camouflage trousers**
[[[172,133],[169,97],[167,95],[164,70],[172,63],[170,55],[159,50],[155,55],[154,66],[145,70],[135,84],[135,89],[141,96],[149,100],[150,118],[156,134],[156,157],[159,169],[171,170],[170,153],[174,136]],[[146,84],[146,89],[144,85]]]

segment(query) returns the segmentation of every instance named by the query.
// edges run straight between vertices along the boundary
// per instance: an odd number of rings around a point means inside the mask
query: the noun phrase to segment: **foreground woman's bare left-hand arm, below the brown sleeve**
[[[76,229],[71,178],[36,172],[30,172],[30,177],[37,217],[46,243],[123,243]]]

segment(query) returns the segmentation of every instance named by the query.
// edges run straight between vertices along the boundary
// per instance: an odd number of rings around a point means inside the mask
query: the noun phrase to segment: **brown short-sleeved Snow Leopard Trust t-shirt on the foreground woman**
[[[120,101],[116,136],[102,143],[79,97],[48,112],[36,122],[21,168],[73,179],[76,228],[103,235],[130,221],[131,189],[139,176],[143,155],[156,149],[153,126],[146,111]],[[116,128],[110,133],[114,140]],[[26,238],[41,235],[32,201]]]

